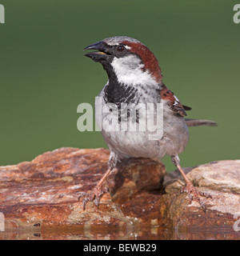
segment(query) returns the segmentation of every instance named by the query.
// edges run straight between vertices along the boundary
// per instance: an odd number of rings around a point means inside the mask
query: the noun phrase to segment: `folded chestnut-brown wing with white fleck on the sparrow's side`
[[[182,115],[182,117],[186,116],[185,110],[190,110],[189,106],[182,106],[181,102],[179,102],[178,98],[174,95],[174,93],[166,88],[164,84],[162,84],[162,90],[160,90],[160,96],[162,99],[167,101],[170,109],[175,113]]]

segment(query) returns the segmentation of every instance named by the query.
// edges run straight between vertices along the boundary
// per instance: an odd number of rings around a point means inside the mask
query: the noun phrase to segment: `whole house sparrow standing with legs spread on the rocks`
[[[108,162],[108,170],[103,175],[97,186],[94,187],[89,194],[83,194],[83,209],[86,203],[94,201],[98,206],[102,194],[107,192],[107,187],[103,186],[103,182],[110,172],[116,167],[118,162],[124,158],[163,158],[166,154],[170,155],[174,166],[181,172],[186,181],[186,191],[190,202],[197,201],[203,210],[206,206],[199,196],[210,197],[210,194],[203,193],[194,188],[194,185],[187,178],[186,174],[180,166],[178,154],[185,149],[188,139],[188,126],[215,126],[216,123],[208,120],[186,119],[186,110],[190,110],[189,106],[183,106],[174,93],[167,89],[162,82],[162,71],[158,66],[158,61],[154,54],[142,42],[134,38],[126,36],[118,36],[106,38],[100,42],[86,46],[84,50],[97,50],[86,53],[85,56],[100,62],[108,75],[108,82],[103,87],[98,100],[95,102],[96,113],[99,109],[105,108],[108,113],[95,114],[98,126],[102,127],[102,136],[110,149],[110,158]],[[99,100],[100,99],[100,100]],[[118,122],[110,126],[110,112],[114,106],[120,110],[123,106],[127,110],[127,120],[130,119],[130,108],[138,104],[154,104],[153,115],[147,114],[147,122],[152,123],[158,118],[156,114],[156,104],[162,103],[162,134],[159,138],[151,138],[154,129],[139,130],[139,123],[143,120],[143,114],[140,110],[136,111],[134,118],[138,129],[119,130],[123,119],[118,112]],[[133,119],[133,116],[131,116]],[[145,116],[146,118],[146,116]],[[102,126],[102,120],[105,119],[109,126]],[[125,121],[126,121],[125,119]],[[150,121],[152,122],[150,122]],[[111,120],[112,121],[112,120]],[[143,121],[146,121],[144,119]],[[121,123],[122,122],[122,123]],[[133,120],[130,120],[133,122]],[[129,126],[127,126],[129,128]],[[116,129],[114,129],[116,128]],[[126,126],[125,126],[126,128]],[[81,197],[81,196],[80,196]]]

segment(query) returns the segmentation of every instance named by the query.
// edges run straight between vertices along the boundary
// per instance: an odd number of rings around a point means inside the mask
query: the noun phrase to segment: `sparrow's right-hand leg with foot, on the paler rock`
[[[171,156],[172,158],[172,162],[174,163],[174,166],[176,166],[178,168],[178,170],[181,172],[183,178],[186,181],[186,187],[185,188],[181,188],[181,192],[187,192],[188,197],[190,198],[190,203],[195,200],[197,201],[200,206],[202,207],[202,210],[204,210],[204,212],[206,211],[206,206],[204,205],[204,203],[202,202],[202,200],[199,198],[199,195],[206,197],[206,198],[211,198],[210,194],[198,191],[194,188],[194,185],[192,182],[190,182],[189,178],[187,178],[186,174],[184,173],[184,171],[182,170],[182,167],[180,166],[180,159],[178,158],[178,155],[173,155]]]

